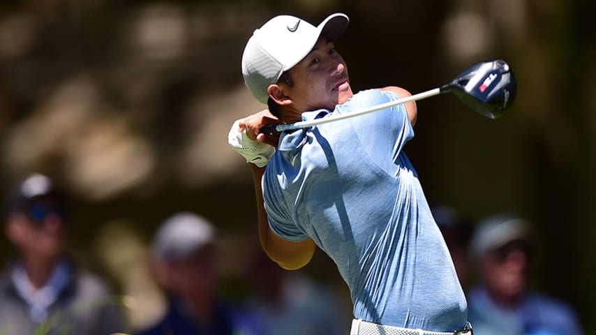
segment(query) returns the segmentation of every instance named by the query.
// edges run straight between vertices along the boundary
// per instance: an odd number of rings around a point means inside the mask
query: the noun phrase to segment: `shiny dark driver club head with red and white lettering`
[[[455,94],[476,112],[497,119],[512,105],[517,90],[509,64],[501,59],[481,61],[470,66],[441,91]]]

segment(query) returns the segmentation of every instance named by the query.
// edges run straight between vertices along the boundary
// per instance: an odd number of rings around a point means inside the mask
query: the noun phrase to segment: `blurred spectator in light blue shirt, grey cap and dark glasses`
[[[519,216],[498,214],[480,223],[470,245],[479,272],[468,295],[475,333],[582,334],[569,305],[530,288],[534,245],[530,223]]]

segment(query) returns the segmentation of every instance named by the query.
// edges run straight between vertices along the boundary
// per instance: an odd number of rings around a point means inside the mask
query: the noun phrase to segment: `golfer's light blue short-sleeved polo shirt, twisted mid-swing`
[[[396,99],[387,91],[362,91],[333,113]],[[403,105],[283,133],[262,179],[265,208],[278,236],[310,237],[334,260],[355,318],[447,332],[463,327],[467,305],[403,152],[413,136]]]

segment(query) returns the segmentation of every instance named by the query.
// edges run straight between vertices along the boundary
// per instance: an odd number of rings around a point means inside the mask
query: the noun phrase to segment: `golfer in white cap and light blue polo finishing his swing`
[[[471,334],[449,251],[403,152],[415,103],[279,138],[260,132],[410,96],[398,87],[352,94],[334,47],[347,26],[341,13],[318,27],[281,15],[246,44],[246,87],[269,110],[236,121],[228,141],[251,163],[262,247],[285,269],[325,251],[350,289],[351,334]]]

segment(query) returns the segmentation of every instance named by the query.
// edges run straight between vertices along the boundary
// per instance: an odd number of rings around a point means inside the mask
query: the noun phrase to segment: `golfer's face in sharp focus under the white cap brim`
[[[302,111],[333,110],[352,97],[345,61],[325,37],[319,38],[313,50],[290,69],[290,77],[294,86],[289,96]]]

